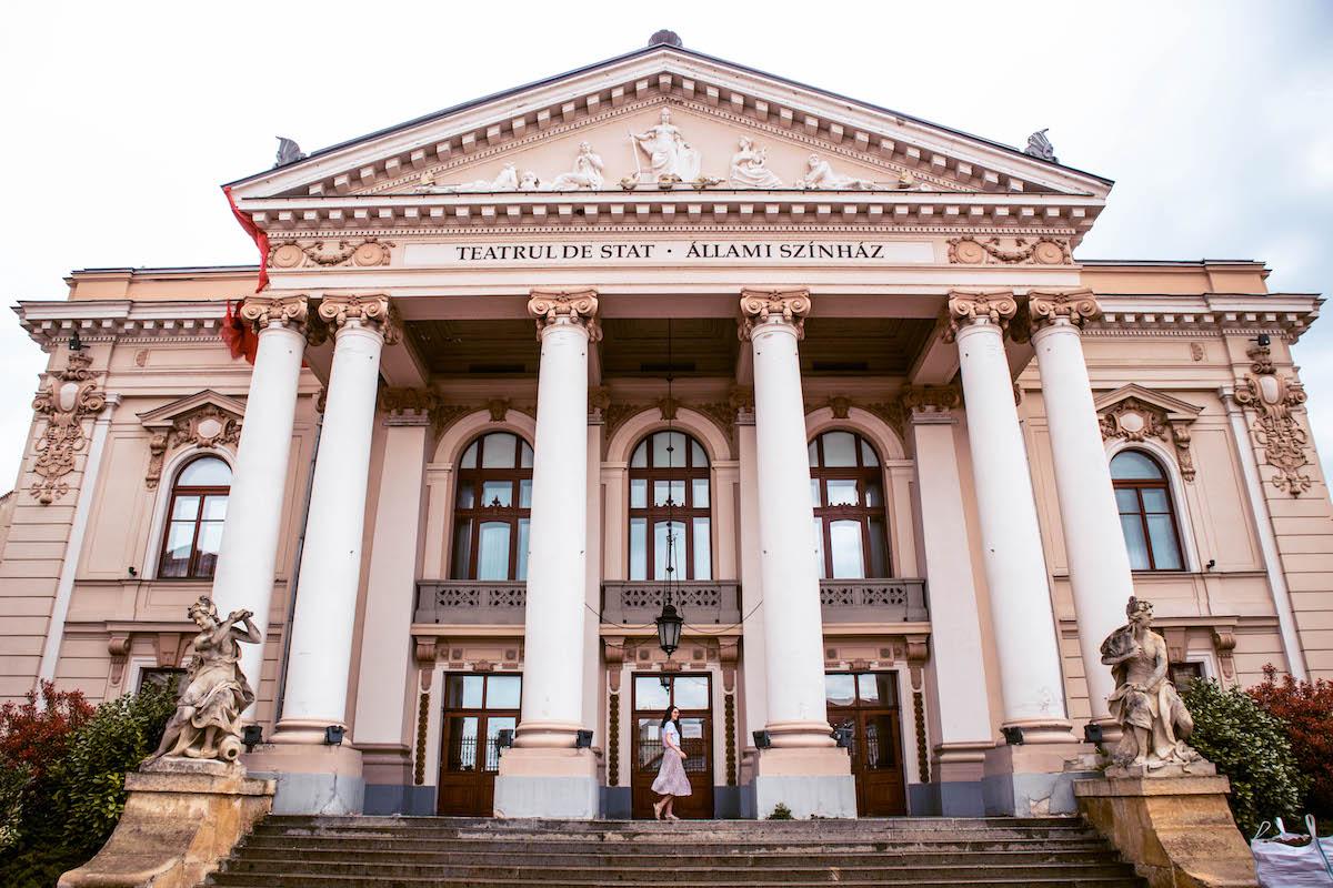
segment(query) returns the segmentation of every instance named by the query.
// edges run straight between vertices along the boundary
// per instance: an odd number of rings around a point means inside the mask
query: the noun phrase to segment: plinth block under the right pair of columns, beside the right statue
[[[1076,813],[1074,780],[1100,776],[1086,743],[997,746],[986,751],[981,795],[992,816]]]

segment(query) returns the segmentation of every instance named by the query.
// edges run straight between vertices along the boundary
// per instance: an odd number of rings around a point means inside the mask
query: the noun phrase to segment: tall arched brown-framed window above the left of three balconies
[[[459,461],[453,579],[528,579],[532,447],[511,431],[481,435]]]

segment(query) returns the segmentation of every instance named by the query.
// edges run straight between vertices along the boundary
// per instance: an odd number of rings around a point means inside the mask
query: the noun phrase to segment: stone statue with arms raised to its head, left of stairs
[[[200,595],[188,612],[200,630],[187,671],[189,684],[148,760],[184,756],[235,762],[241,752],[241,712],[255,702],[255,691],[240,670],[240,643],[257,644],[261,636],[251,620],[253,614],[232,611],[220,620],[207,595]]]

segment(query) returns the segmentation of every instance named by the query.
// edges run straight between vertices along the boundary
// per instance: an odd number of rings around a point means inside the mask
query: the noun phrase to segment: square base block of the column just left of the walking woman
[[[592,750],[513,747],[500,756],[495,816],[596,820],[601,787]]]

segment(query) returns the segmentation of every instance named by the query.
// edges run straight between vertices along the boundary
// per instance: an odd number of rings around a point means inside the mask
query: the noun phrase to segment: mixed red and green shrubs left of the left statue
[[[175,692],[91,707],[44,683],[47,706],[0,711],[0,884],[49,888],[92,857],[125,805],[125,771],[152,752],[176,708]],[[13,707],[11,710],[11,707]]]

